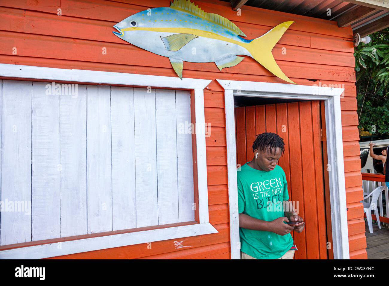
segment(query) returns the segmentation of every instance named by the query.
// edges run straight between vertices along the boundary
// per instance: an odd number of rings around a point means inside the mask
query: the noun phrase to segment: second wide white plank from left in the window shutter
[[[31,239],[60,237],[60,94],[32,83]]]

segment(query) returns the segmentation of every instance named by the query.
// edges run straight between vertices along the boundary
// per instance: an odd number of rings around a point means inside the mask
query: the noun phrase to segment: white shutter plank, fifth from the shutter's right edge
[[[112,230],[110,87],[87,86],[88,233]]]

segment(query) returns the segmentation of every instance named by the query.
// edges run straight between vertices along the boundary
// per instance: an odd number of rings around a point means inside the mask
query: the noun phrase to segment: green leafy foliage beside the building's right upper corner
[[[359,128],[389,138],[389,28],[369,35],[355,49]]]

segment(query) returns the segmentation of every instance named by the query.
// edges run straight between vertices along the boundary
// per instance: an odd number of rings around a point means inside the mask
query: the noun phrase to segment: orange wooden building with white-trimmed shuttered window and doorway
[[[0,258],[239,259],[236,168],[265,131],[286,142],[306,221],[295,258],[367,258],[350,23],[194,2],[247,39],[294,21],[272,53],[296,85],[249,57],[221,71],[185,62],[181,81],[168,58],[112,34],[169,0],[0,1],[0,200],[27,205],[1,212]],[[170,106],[196,133],[169,123]]]

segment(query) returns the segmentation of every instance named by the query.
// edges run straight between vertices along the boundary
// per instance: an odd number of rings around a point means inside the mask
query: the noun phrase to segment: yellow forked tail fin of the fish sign
[[[249,44],[247,50],[251,53],[254,60],[258,61],[263,67],[269,70],[272,74],[283,79],[284,81],[294,83],[282,72],[280,67],[277,65],[273,58],[272,49],[280,40],[282,35],[286,32],[290,25],[294,21],[288,21],[275,26],[272,30],[267,32],[265,35],[254,39]]]

